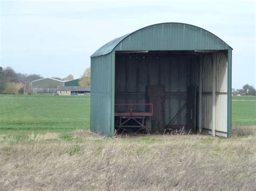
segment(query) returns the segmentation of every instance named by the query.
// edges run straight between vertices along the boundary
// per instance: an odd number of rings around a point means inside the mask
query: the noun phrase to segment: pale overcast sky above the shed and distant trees
[[[0,66],[44,77],[75,78],[108,41],[144,26],[187,23],[233,48],[233,88],[255,87],[254,1],[0,0]]]

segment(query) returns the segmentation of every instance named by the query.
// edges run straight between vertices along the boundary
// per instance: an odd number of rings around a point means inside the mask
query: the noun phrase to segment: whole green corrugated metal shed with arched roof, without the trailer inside
[[[144,55],[145,54],[145,55]],[[91,55],[91,130],[112,136],[114,103],[146,103],[165,87],[165,123],[197,86],[197,128],[231,136],[232,48],[200,27],[161,23],[114,39]],[[224,106],[223,106],[224,105]],[[174,125],[186,124],[186,112]]]

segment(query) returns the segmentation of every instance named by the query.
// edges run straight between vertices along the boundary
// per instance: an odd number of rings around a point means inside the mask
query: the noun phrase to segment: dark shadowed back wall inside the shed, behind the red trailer
[[[196,130],[200,54],[195,51],[116,52],[115,104],[154,102],[153,116],[156,117],[151,117],[152,131],[183,127]],[[149,87],[156,91],[152,99]],[[191,88],[196,95],[191,96]],[[194,112],[188,114],[188,108]],[[133,109],[149,110],[145,105],[136,105]],[[122,110],[129,108],[116,105],[115,112]]]

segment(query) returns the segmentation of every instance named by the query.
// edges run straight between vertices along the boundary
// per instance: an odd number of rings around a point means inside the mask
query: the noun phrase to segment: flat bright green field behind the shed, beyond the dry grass
[[[255,96],[232,97],[232,125],[256,125]],[[58,133],[72,139],[90,128],[90,96],[0,95],[0,133],[16,141],[31,133]]]

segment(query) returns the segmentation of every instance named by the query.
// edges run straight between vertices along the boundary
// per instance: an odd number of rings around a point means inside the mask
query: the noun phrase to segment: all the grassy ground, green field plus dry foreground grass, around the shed
[[[255,97],[232,138],[90,132],[90,96],[0,95],[0,190],[256,190]]]

